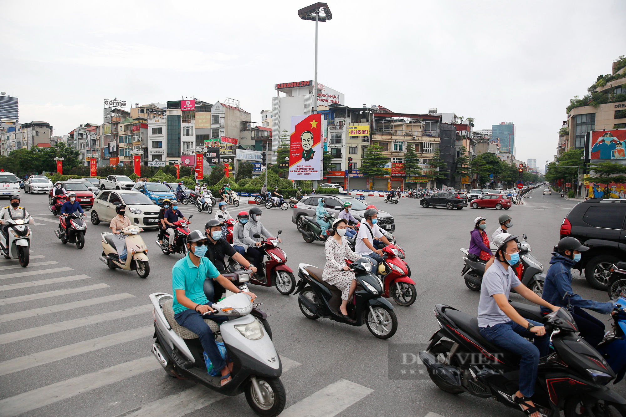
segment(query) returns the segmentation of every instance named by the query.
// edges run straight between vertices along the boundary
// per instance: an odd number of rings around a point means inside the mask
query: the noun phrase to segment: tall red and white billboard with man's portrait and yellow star
[[[289,179],[319,180],[322,161],[322,116],[291,116]]]

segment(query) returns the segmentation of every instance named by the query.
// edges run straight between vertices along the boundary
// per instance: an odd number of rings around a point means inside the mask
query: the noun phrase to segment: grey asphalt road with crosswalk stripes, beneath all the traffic
[[[556,193],[543,196],[541,190],[531,192],[526,205],[506,213],[515,223],[510,231],[528,235],[533,255],[547,269],[559,226],[575,202]],[[219,398],[192,381],[169,378],[151,355],[148,294],[171,292],[170,271],[181,257],[158,251],[156,232],[141,234],[151,272],[140,279],[135,272],[110,270],[98,260],[100,233],[107,225],[89,224],[85,248],[78,250],[56,239],[57,220],[49,213],[46,195],[23,195],[22,202],[37,224],[32,227],[29,267],[0,259],[0,417],[255,415],[243,395]],[[389,379],[387,373],[390,344],[424,343],[438,329],[435,303],[476,314],[479,293],[469,291],[460,277],[459,248],[468,247],[476,216],[487,217],[491,234],[505,212],[424,209],[419,200],[409,198],[398,205],[385,204],[382,198],[368,202],[394,215],[418,299],[411,307],[392,301],[398,332],[382,341],[365,326],[306,319],[297,297],[282,296],[274,287],[251,286],[265,303],[261,308],[270,316],[274,344],[287,368],[281,377],[289,408],[284,415],[302,415],[303,410],[311,416],[335,415],[325,411],[330,408],[339,416],[520,416],[490,399],[444,393],[429,379]],[[231,214],[249,207],[243,204]],[[192,229],[202,229],[213,217],[191,206],[181,208],[195,214]],[[323,244],[304,242],[291,222],[291,210],[263,210],[265,227],[282,229],[292,269],[300,262],[323,267]],[[60,280],[43,281],[54,279]],[[605,292],[592,289],[584,279],[575,279],[574,289],[583,297],[607,300]],[[520,298],[511,294],[515,297]],[[624,385],[617,388],[622,395]]]

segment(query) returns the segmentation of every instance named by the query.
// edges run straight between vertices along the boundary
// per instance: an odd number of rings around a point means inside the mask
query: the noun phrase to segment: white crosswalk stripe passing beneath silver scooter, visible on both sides
[[[296,361],[292,361],[292,359],[285,358],[284,356],[280,356],[280,362],[282,362],[283,372],[300,366]],[[215,401],[219,401],[222,398],[226,398],[226,396],[198,384],[180,393],[152,401],[138,409],[126,411],[126,413],[122,413],[118,417],[182,417],[185,414],[193,413],[193,411],[197,409],[215,403]]]

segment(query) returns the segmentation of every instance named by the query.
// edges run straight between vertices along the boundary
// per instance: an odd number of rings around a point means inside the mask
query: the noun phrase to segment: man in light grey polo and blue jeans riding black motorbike
[[[528,289],[511,269],[511,265],[520,262],[516,238],[502,233],[493,242],[498,250],[495,259],[487,263],[483,275],[478,303],[478,327],[485,339],[521,356],[519,389],[511,400],[519,404],[526,415],[540,417],[531,397],[535,393],[539,358],[548,354],[550,336],[546,334],[543,324],[520,316],[509,304],[508,297],[511,288],[514,288],[520,296],[542,307],[552,311],[560,307],[553,306]],[[533,343],[525,337],[532,337]]]

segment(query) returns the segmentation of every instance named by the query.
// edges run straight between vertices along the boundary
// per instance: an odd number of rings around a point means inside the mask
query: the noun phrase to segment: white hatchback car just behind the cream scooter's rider
[[[106,222],[108,225],[117,215],[115,208],[118,204],[126,205],[126,216],[132,225],[144,229],[158,228],[158,212],[161,207],[143,193],[133,190],[102,190],[98,193],[91,208],[91,223],[97,225]]]

